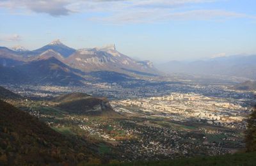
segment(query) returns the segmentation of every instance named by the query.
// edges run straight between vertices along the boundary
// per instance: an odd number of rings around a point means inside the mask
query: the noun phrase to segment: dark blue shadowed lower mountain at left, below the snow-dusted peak
[[[0,66],[0,82],[23,84],[80,85],[83,77],[79,71],[67,66],[55,57],[29,61],[15,67]]]

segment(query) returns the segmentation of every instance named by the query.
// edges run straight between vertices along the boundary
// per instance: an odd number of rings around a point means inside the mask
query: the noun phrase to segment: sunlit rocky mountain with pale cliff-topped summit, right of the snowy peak
[[[129,70],[133,70],[148,74],[159,73],[149,61],[136,61],[125,56],[115,49],[115,45],[77,50],[65,59],[65,63],[84,72],[108,71],[129,74],[132,73]]]

